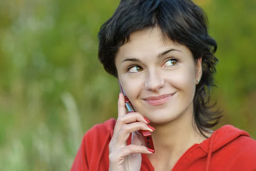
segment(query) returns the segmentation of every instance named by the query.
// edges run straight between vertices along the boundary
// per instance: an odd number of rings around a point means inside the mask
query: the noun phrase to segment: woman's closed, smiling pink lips
[[[152,106],[158,106],[158,105],[161,105],[161,104],[165,104],[167,101],[169,101],[169,99],[175,93],[164,94],[164,95],[161,95],[161,96],[150,96],[150,97],[144,98],[143,100],[145,100],[148,104],[150,104]]]

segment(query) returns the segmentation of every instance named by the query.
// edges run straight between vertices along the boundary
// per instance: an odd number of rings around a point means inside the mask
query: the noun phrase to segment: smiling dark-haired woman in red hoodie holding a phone
[[[135,113],[95,125],[72,171],[253,171],[256,141],[209,106],[218,59],[207,17],[190,0],[121,0],[99,31],[99,60]],[[134,133],[149,130],[154,150]],[[131,136],[130,136],[131,133]],[[129,137],[130,136],[130,137]]]

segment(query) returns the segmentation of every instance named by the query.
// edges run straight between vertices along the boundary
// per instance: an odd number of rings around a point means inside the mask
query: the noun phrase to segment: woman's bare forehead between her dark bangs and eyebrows
[[[130,35],[130,41],[119,48],[117,56],[152,56],[167,49],[175,48],[182,52],[189,51],[186,46],[174,43],[169,38],[163,38],[158,27],[136,31]]]

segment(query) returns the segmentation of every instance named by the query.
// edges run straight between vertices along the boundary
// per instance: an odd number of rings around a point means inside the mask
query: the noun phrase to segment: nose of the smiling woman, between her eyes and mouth
[[[157,70],[151,70],[146,77],[145,88],[147,90],[158,91],[165,85],[163,75]]]

